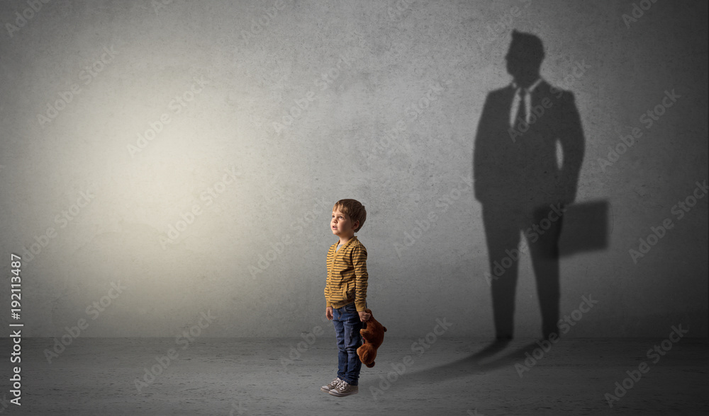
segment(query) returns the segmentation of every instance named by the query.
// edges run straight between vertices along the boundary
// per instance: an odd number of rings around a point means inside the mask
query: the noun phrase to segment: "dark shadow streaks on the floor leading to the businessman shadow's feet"
[[[406,373],[398,376],[398,379],[392,383],[392,387],[399,388],[410,384],[420,385],[422,383],[437,383],[449,379],[457,379],[458,377],[469,376],[470,374],[481,374],[505,366],[509,366],[510,369],[514,369],[515,362],[521,362],[525,359],[525,352],[529,352],[530,349],[539,347],[537,342],[530,342],[519,347],[518,349],[513,349],[500,357],[488,360],[490,357],[498,354],[498,352],[502,352],[506,349],[509,343],[509,340],[496,340],[481,349],[479,352],[470,354],[467,357],[462,357],[454,362],[441,364],[439,366],[421,369],[418,371],[409,371],[406,369]],[[418,357],[414,357],[413,366],[416,365],[417,361],[420,361],[420,359],[418,359]]]

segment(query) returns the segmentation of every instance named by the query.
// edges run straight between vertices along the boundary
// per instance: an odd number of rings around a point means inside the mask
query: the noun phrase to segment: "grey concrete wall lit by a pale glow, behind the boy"
[[[82,336],[172,337],[208,310],[207,336],[329,328],[328,222],[344,197],[367,207],[368,302],[391,336],[425,334],[435,318],[454,323],[450,336],[493,335],[481,209],[461,177],[486,93],[510,81],[513,28],[542,38],[542,75],[576,95],[579,201],[612,210],[608,249],[562,260],[562,315],[598,300],[566,336],[666,336],[679,323],[707,335],[707,198],[671,213],[707,178],[704,2],[657,1],[629,25],[633,3],[616,1],[38,4],[0,13],[0,253],[7,271],[10,253],[36,243],[23,255],[26,335],[60,336],[84,318]],[[96,64],[104,48],[115,56]],[[195,79],[206,84],[190,95]],[[58,115],[38,120],[74,84]],[[671,90],[681,98],[646,128],[640,116]],[[161,116],[169,123],[130,154]],[[642,137],[604,171],[598,159],[632,127]],[[90,202],[72,208],[82,192]],[[444,207],[446,195],[459,197]],[[415,231],[430,212],[437,220]],[[628,250],[666,218],[674,228],[635,264]],[[253,273],[260,256],[271,261]],[[118,282],[110,305],[91,306]],[[526,257],[517,296],[517,334],[535,336]]]

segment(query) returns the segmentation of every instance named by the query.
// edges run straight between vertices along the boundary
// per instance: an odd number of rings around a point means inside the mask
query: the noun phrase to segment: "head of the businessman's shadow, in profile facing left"
[[[544,60],[542,40],[531,33],[512,31],[510,49],[505,55],[507,71],[516,82],[529,86],[540,73]]]

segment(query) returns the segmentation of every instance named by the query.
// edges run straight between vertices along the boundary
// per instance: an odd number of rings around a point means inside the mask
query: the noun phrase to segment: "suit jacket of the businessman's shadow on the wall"
[[[585,146],[574,94],[542,81],[532,91],[529,125],[516,131],[509,125],[514,94],[507,86],[491,91],[485,100],[474,147],[476,199],[527,208],[573,202]]]

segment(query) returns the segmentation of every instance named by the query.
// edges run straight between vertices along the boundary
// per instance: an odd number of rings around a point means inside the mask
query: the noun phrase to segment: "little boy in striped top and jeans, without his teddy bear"
[[[339,200],[333,207],[330,228],[340,237],[328,251],[328,279],[325,284],[325,316],[335,324],[337,378],[320,390],[342,397],[356,394],[362,362],[357,348],[362,345],[359,330],[369,319],[367,308],[367,249],[354,233],[367,219],[367,211],[356,200]]]

